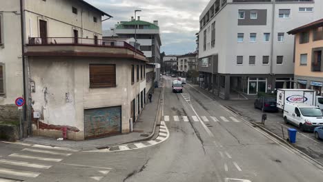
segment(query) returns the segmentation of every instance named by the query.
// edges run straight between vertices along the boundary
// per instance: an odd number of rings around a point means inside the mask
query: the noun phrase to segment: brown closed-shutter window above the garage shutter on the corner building
[[[106,88],[116,86],[115,65],[91,64],[90,88]]]

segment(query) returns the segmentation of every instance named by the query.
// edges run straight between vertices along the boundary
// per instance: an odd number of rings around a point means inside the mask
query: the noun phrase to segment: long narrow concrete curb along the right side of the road
[[[225,108],[227,108],[228,110],[230,110],[231,112],[237,114],[237,116],[241,117],[244,121],[251,123],[253,125],[256,125],[257,128],[260,128],[260,130],[266,132],[267,134],[270,134],[271,136],[273,136],[275,139],[279,140],[280,142],[284,143],[285,145],[287,145],[290,148],[293,148],[293,150],[297,151],[298,153],[304,155],[307,159],[311,160],[313,163],[316,163],[317,165],[320,165],[321,168],[323,168],[323,164],[320,163],[319,161],[313,159],[313,157],[309,156],[308,154],[302,152],[301,150],[298,150],[297,148],[295,148],[294,145],[292,145],[291,143],[288,143],[285,139],[282,139],[282,137],[278,136],[277,134],[275,134],[274,132],[271,132],[270,130],[264,128],[262,125],[259,125],[258,123],[255,122],[251,122],[248,121],[248,119],[245,119],[244,116],[242,116],[241,114],[239,114],[234,108],[231,108],[230,106],[224,105]],[[321,169],[322,170],[322,169]]]

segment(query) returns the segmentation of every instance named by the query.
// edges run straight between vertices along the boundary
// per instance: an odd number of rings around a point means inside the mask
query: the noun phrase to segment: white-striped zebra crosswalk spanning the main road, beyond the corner
[[[170,122],[170,121],[175,121],[175,122],[179,122],[179,121],[184,121],[184,122],[195,121],[195,122],[198,122],[199,119],[201,119],[204,122],[233,122],[233,123],[240,123],[241,122],[241,121],[239,121],[239,119],[237,119],[235,117],[164,116],[164,121],[166,121],[166,122]]]

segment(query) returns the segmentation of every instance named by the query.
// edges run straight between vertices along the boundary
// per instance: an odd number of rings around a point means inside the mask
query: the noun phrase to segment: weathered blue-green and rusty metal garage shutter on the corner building
[[[85,139],[121,133],[121,106],[84,110]]]

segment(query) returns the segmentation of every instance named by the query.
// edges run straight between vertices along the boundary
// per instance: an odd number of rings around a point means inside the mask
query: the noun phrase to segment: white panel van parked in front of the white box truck
[[[313,105],[285,103],[284,121],[297,125],[302,131],[313,131],[315,127],[323,125],[323,113]]]

